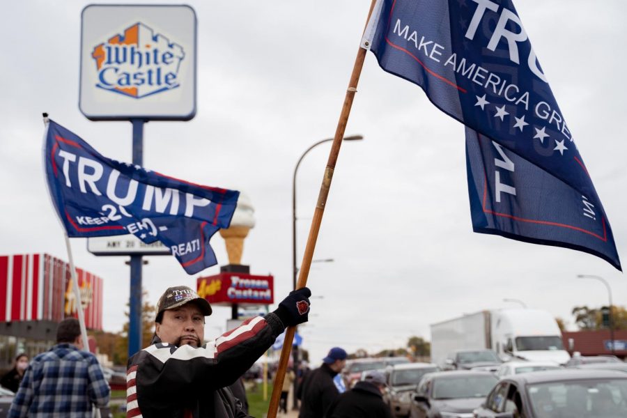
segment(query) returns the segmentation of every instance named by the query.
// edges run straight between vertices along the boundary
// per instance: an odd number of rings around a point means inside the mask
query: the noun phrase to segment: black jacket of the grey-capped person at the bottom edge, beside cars
[[[378,387],[371,382],[357,382],[334,401],[327,418],[392,418]]]

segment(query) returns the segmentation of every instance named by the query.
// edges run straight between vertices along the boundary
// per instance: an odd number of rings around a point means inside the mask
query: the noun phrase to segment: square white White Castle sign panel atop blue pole
[[[92,120],[189,120],[196,112],[195,59],[189,6],[87,6],[79,107]]]

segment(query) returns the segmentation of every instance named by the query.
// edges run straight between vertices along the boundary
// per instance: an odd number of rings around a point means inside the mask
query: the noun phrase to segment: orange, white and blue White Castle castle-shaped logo
[[[138,22],[91,53],[98,70],[97,87],[140,99],[177,88],[185,52],[180,45]]]

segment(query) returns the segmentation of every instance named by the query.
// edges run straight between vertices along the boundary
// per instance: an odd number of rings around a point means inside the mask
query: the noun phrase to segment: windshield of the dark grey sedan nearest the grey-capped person
[[[495,376],[442,376],[433,380],[433,399],[485,398],[496,385]]]

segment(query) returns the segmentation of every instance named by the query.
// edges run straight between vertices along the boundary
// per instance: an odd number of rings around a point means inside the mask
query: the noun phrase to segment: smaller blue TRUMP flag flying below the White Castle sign
[[[132,233],[147,244],[159,240],[188,274],[217,263],[209,240],[231,224],[240,192],[103,157],[53,121],[43,157],[50,196],[68,236]]]

